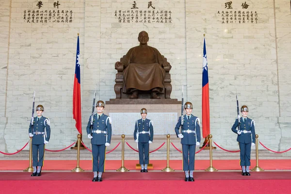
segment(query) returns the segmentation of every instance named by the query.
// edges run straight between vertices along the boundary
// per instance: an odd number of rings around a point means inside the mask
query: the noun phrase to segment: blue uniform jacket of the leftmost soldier
[[[33,118],[33,131],[32,123],[29,126],[29,133],[33,134],[32,144],[40,145],[44,144],[45,140],[49,141],[50,137],[50,122],[49,119],[41,116],[37,121],[37,116]]]

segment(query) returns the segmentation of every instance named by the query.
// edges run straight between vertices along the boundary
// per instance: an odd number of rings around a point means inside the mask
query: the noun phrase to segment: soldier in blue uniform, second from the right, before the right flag
[[[192,114],[193,105],[191,102],[184,104],[186,114],[183,115],[184,123],[182,133],[180,133],[181,116],[175,127],[175,132],[178,138],[181,138],[183,152],[183,171],[185,172],[185,181],[194,181],[193,171],[195,162],[195,146],[200,146],[200,120]],[[188,158],[189,154],[189,158]],[[189,159],[189,163],[188,163]],[[190,174],[189,174],[190,171]],[[189,177],[190,176],[190,177]]]

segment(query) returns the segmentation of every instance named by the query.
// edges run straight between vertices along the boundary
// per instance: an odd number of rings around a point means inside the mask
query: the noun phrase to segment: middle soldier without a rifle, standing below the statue
[[[153,142],[154,126],[153,122],[146,118],[147,111],[145,108],[141,110],[142,118],[136,120],[133,137],[138,143],[139,162],[141,164],[141,172],[147,171],[149,162],[149,144]]]

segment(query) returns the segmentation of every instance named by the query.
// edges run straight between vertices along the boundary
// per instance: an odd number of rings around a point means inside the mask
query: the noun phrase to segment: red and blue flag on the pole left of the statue
[[[77,54],[76,54],[76,69],[73,90],[73,118],[76,120],[76,128],[82,134],[82,121],[81,121],[81,76],[80,76],[80,46],[79,35],[77,41]]]

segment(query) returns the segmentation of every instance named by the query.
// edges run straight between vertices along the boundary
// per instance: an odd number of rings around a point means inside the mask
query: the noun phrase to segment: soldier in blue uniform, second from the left
[[[93,155],[93,182],[102,181],[102,173],[105,171],[105,152],[106,147],[110,146],[111,142],[111,118],[103,114],[105,108],[102,100],[97,101],[97,114],[93,116],[93,127],[91,129],[91,117],[87,126],[88,138],[91,139],[92,155]]]

